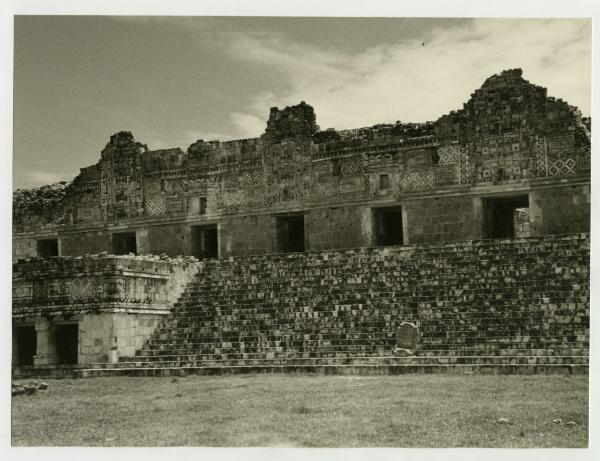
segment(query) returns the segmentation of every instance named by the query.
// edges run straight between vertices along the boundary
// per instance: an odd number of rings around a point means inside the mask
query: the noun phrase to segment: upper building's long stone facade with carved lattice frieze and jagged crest
[[[263,240],[275,238],[272,220],[259,215],[298,210],[310,218],[309,248],[365,245],[368,233],[359,231],[365,206],[406,203],[414,209],[412,201],[425,198],[432,200],[420,203],[432,210],[423,210],[425,217],[410,225],[417,230],[410,241],[469,239],[476,232],[470,225],[461,232],[453,217],[440,214],[435,198],[589,180],[590,134],[580,112],[512,69],[488,78],[462,109],[435,122],[320,132],[312,107],[302,103],[273,108],[261,138],[199,140],[186,152],[150,151],[131,133],[116,133],[100,161],[83,168],[68,186],[51,188],[50,196],[46,189],[15,194],[15,237],[22,239],[13,254],[31,254],[26,239],[47,233],[48,226],[58,234],[64,255],[111,251],[115,226],[139,231],[140,253],[185,254],[186,226],[214,222],[224,232],[222,255],[271,252],[276,244]],[[40,213],[47,199],[52,212]],[[469,200],[461,201],[459,213],[476,218],[476,210],[468,211]],[[588,207],[580,203],[571,208],[581,208],[574,213],[584,216]],[[332,237],[338,232],[333,221],[325,218],[321,227],[313,219],[323,206],[345,210],[335,220],[349,226],[348,236]],[[351,212],[348,206],[357,208]],[[544,207],[537,212],[544,210],[550,212]],[[361,219],[351,223],[343,213]],[[435,215],[443,222],[424,224]],[[572,227],[558,221],[533,225],[537,233]]]

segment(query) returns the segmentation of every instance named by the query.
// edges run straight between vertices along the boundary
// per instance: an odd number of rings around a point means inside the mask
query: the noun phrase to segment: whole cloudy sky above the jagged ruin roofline
[[[185,150],[300,101],[321,129],[435,120],[514,67],[590,114],[588,20],[18,16],[14,188],[71,180],[120,130]]]

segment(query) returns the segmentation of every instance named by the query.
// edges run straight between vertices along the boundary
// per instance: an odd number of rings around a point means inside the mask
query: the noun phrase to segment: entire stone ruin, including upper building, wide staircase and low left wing
[[[150,150],[13,200],[13,373],[587,372],[591,120],[520,69],[427,123]]]

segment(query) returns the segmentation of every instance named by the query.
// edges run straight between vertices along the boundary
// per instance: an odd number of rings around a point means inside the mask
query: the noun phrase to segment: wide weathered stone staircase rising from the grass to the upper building
[[[79,376],[588,371],[588,234],[201,265],[134,357]]]

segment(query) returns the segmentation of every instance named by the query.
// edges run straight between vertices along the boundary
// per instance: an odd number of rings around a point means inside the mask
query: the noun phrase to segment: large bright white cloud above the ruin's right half
[[[284,35],[234,34],[228,52],[273,82],[244,113],[230,114],[244,136],[264,130],[270,106],[302,100],[315,107],[322,129],[435,120],[460,109],[489,76],[516,67],[548,95],[590,113],[589,20],[473,20],[354,54]]]

